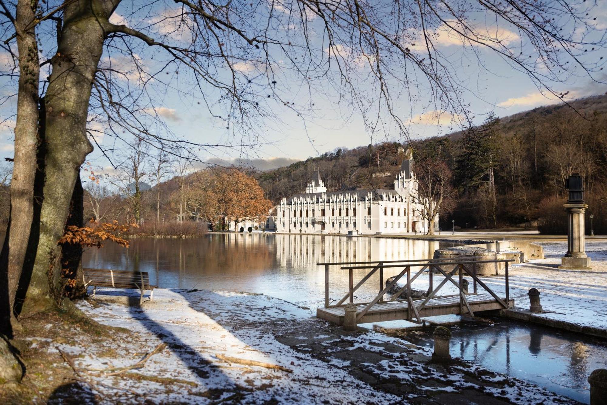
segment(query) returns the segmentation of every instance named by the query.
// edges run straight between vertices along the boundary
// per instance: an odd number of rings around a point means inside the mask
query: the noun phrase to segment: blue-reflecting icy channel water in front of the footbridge
[[[584,403],[589,401],[588,376],[607,365],[607,343],[598,338],[509,321],[451,329],[453,355]],[[431,332],[411,333],[407,339],[433,345]]]

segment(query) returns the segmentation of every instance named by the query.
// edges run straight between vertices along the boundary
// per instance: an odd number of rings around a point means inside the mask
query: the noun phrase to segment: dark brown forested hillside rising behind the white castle
[[[452,213],[444,213],[441,223],[455,218],[462,226],[493,227],[535,221],[546,216],[549,207],[562,207],[563,181],[572,173],[586,178],[589,211],[594,210],[595,218],[605,217],[597,214],[600,201],[607,199],[607,95],[577,100],[571,106],[488,117],[470,130],[414,141],[416,153],[435,154],[452,171],[455,193],[447,204]],[[402,158],[398,151],[406,146],[341,148],[257,173],[257,178],[274,202],[303,192],[315,168],[328,190],[392,188]],[[495,193],[489,197],[487,189],[493,185]],[[602,223],[595,220],[597,226]]]

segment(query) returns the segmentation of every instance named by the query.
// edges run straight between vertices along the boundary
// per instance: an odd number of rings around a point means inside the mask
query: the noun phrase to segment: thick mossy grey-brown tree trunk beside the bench
[[[117,3],[117,2],[115,2]],[[64,9],[64,26],[46,94],[45,178],[40,235],[22,314],[52,308],[62,298],[61,247],[80,166],[92,145],[86,136],[93,77],[112,2],[76,1]]]

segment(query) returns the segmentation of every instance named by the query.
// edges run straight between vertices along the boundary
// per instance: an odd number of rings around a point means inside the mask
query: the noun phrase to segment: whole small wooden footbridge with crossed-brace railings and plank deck
[[[389,260],[389,261],[353,261],[344,263],[318,263],[319,266],[325,266],[325,306],[317,308],[316,316],[337,325],[344,325],[346,301],[356,306],[356,324],[365,324],[368,322],[381,322],[384,320],[405,319],[410,322],[421,324],[424,317],[447,315],[447,314],[468,314],[474,316],[475,311],[500,310],[502,308],[512,308],[514,300],[509,297],[509,279],[508,263],[514,260],[470,260],[470,258],[452,258],[452,259],[422,259],[422,260]],[[500,297],[493,292],[485,283],[476,276],[476,266],[480,263],[505,263],[505,296]],[[330,305],[329,297],[329,266],[339,265],[342,270],[347,270],[349,274],[350,288],[347,294],[336,304]],[[384,285],[384,269],[402,268],[395,279],[388,285]],[[412,268],[419,268],[412,275]],[[369,269],[356,285],[354,285],[354,270]],[[419,275],[428,272],[430,287],[426,291],[425,297],[412,297],[412,283]],[[434,288],[433,272],[436,271],[438,277],[442,280]],[[371,275],[379,272],[379,293],[370,302],[354,302],[354,292],[360,288]],[[458,280],[453,280],[457,275]],[[472,278],[473,291],[468,292],[464,289],[464,275]],[[398,288],[398,281],[407,278],[407,283],[398,289],[390,299],[385,300],[385,294],[394,286]],[[444,296],[437,295],[446,283],[453,283],[459,290],[458,294],[449,294]],[[478,286],[483,290],[478,292]],[[405,297],[401,298],[401,294]]]

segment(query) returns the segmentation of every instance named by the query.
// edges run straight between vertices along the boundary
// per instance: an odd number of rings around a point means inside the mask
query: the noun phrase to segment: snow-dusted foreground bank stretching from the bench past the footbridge
[[[345,333],[273,297],[158,289],[140,306],[136,292],[106,289],[97,298],[81,309],[128,331],[49,351],[68,353],[103,387],[100,403],[574,403],[467,362],[429,364],[429,350],[374,331]],[[86,371],[135,364],[162,343],[139,369]]]

